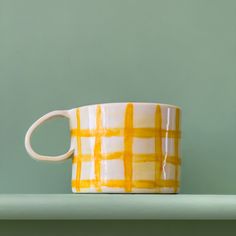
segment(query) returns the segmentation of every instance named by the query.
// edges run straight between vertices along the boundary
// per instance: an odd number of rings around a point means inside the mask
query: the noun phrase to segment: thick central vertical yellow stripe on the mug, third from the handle
[[[125,191],[132,190],[132,146],[133,146],[133,104],[128,103],[125,111],[124,128],[124,169]]]

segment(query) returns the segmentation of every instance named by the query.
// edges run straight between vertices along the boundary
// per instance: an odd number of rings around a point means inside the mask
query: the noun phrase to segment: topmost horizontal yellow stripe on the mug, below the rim
[[[79,132],[79,134],[78,134]],[[180,131],[175,130],[160,130],[155,128],[132,128],[126,131],[128,135],[133,136],[134,138],[154,138],[157,133],[161,132],[162,137],[167,138],[180,138]],[[100,135],[102,137],[112,137],[112,136],[123,136],[124,129],[123,128],[101,128],[101,129],[71,129],[71,136],[80,137],[95,137],[96,135]]]

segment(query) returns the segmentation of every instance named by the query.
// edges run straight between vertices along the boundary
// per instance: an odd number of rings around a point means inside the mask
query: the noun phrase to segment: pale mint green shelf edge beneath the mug
[[[236,219],[236,195],[2,194],[0,219]]]

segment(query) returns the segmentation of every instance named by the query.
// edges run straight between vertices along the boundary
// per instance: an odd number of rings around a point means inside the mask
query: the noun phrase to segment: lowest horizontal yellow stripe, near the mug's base
[[[95,187],[97,184],[96,180],[81,180],[80,188],[90,188]],[[76,186],[76,181],[72,180],[72,188]],[[125,188],[125,180],[107,180],[101,181],[101,186],[111,187],[111,188]],[[155,187],[166,187],[166,188],[176,188],[179,187],[179,182],[175,180],[159,180],[148,181],[148,180],[136,180],[132,181],[133,188],[155,188]]]

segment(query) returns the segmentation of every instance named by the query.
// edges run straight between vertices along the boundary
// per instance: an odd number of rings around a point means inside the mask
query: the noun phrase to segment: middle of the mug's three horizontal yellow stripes
[[[119,160],[123,159],[124,153],[123,152],[114,152],[114,153],[107,153],[101,154],[101,160]],[[94,161],[94,156],[87,154],[81,155],[80,157],[74,156],[72,159],[72,163],[75,164],[77,159],[80,159],[84,162]],[[175,156],[163,156],[163,162],[171,163],[173,165],[180,165],[181,159],[177,159]],[[155,154],[133,154],[133,161],[134,162],[153,162],[153,161],[161,161],[160,157],[157,157]]]

